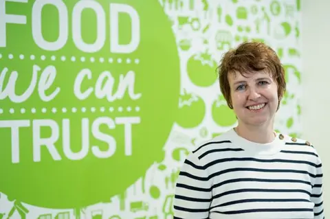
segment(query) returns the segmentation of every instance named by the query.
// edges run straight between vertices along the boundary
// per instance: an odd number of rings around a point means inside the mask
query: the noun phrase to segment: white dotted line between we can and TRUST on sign
[[[56,107],[52,107],[52,108],[40,108],[40,109],[36,109],[36,108],[30,108],[29,110],[27,108],[20,108],[18,110],[15,110],[14,108],[10,108],[8,110],[8,113],[10,114],[14,114],[14,113],[21,113],[21,114],[24,114],[24,113],[28,113],[28,112],[31,112],[31,113],[47,113],[47,112],[52,112],[52,113],[58,113],[58,112],[61,112],[61,113],[67,113],[67,112],[72,112],[72,113],[88,113],[88,112],[91,112],[91,113],[96,113],[97,109],[101,112],[101,113],[105,113],[106,111],[109,111],[111,113],[115,112],[115,111],[118,111],[120,113],[126,111],[126,112],[132,112],[132,111],[135,111],[135,112],[139,112],[140,111],[140,107],[139,106],[135,106],[135,107],[132,107],[132,106],[127,106],[127,107],[123,107],[123,106],[119,106],[117,108],[111,106],[109,108],[106,108],[104,106],[100,107],[100,108],[96,108],[94,106],[92,107],[82,107],[82,108],[76,108],[76,107],[72,107],[72,108],[66,108],[66,107],[63,107],[63,108],[56,108]],[[3,111],[2,108],[0,108],[0,114],[3,114],[5,113],[5,111]]]

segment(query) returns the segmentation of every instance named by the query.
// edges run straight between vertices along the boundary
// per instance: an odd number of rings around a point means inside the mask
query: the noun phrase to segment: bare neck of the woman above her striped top
[[[237,135],[256,143],[270,143],[276,137],[273,126],[270,124],[267,124],[267,126],[245,126],[239,124],[234,130]]]

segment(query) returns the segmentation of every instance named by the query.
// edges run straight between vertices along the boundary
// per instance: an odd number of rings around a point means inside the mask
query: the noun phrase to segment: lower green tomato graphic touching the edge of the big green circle
[[[203,99],[185,90],[179,97],[179,113],[176,122],[183,128],[194,128],[203,121],[205,112],[206,106]]]

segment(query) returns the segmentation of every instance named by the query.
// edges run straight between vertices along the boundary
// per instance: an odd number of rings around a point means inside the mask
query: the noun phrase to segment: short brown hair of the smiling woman
[[[233,71],[239,71],[242,76],[256,71],[268,71],[278,85],[278,100],[281,100],[286,90],[285,70],[281,60],[276,52],[264,43],[245,42],[234,49],[230,49],[223,54],[217,70],[221,93],[230,108],[232,108],[232,100],[228,73]]]

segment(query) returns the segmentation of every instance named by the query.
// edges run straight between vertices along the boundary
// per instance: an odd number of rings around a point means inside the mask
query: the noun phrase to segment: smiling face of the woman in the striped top
[[[238,71],[228,75],[234,113],[246,125],[258,126],[272,122],[278,107],[278,87],[269,73]]]

